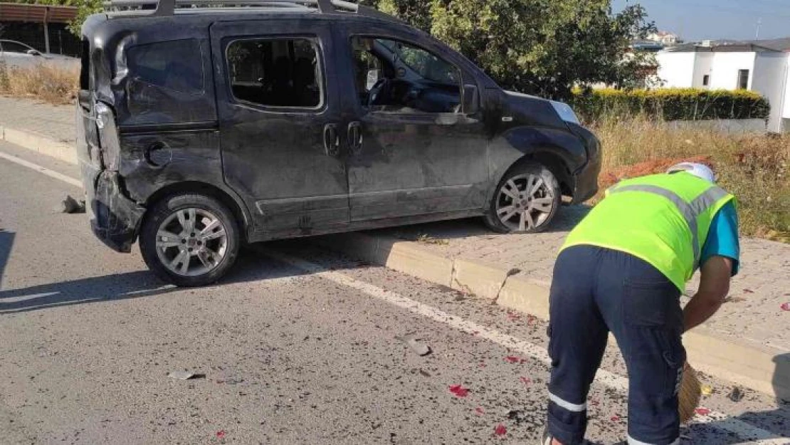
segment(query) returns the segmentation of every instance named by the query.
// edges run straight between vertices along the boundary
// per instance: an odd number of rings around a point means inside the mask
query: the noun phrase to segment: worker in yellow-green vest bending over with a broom
[[[739,265],[735,198],[714,182],[689,163],[623,180],[570,232],[551,283],[544,445],[583,442],[609,332],[628,370],[628,443],[679,443],[681,336],[719,309]],[[698,292],[681,310],[698,268]]]

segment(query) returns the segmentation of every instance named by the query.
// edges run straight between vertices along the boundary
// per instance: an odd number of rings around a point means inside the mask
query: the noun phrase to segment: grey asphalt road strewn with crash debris
[[[80,193],[69,177],[0,142],[0,443],[538,442],[544,322],[309,240],[251,247],[219,285],[172,288],[55,210]],[[590,395],[598,443],[625,437],[624,375],[612,350]],[[683,443],[790,443],[786,405],[751,391],[735,403],[732,384],[703,379],[712,413]]]

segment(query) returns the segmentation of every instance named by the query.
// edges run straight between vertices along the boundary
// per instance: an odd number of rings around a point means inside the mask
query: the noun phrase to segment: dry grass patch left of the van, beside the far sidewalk
[[[56,66],[8,68],[0,63],[0,94],[28,97],[53,105],[70,104],[78,89],[79,70]]]

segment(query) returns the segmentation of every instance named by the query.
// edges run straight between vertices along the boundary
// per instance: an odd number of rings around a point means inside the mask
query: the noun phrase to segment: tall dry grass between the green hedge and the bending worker
[[[677,130],[649,119],[592,124],[604,145],[601,186],[702,161],[739,200],[743,235],[790,242],[790,137]]]

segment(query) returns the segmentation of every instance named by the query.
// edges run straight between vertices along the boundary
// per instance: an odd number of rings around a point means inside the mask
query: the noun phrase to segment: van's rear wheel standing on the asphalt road
[[[156,202],[140,231],[140,251],[157,277],[180,287],[212,284],[239,256],[239,224],[216,198],[173,194]]]

